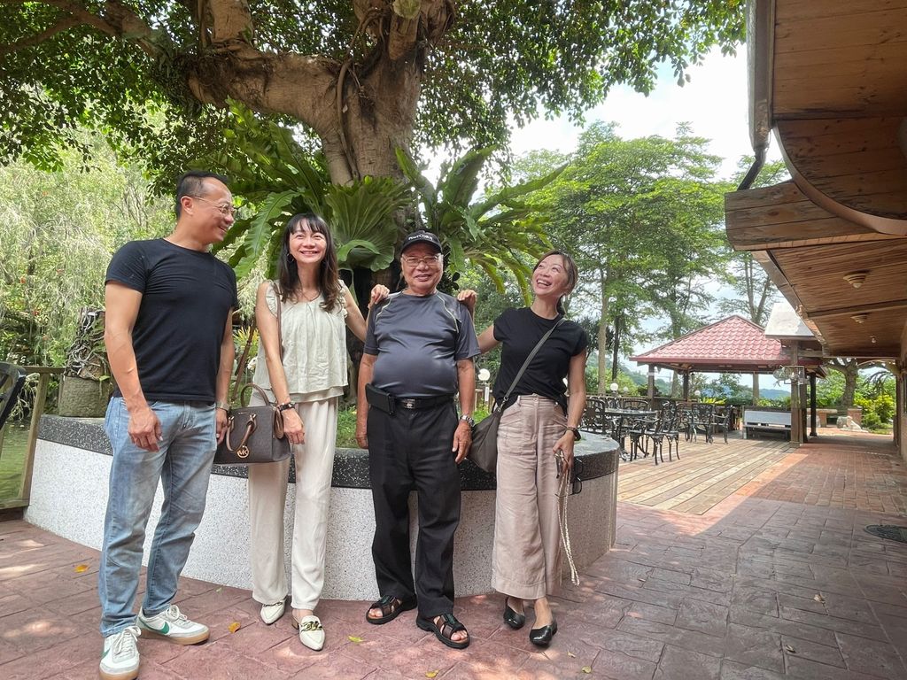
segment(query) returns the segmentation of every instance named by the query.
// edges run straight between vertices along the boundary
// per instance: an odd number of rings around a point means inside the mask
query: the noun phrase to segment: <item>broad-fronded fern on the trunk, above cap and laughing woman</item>
[[[530,297],[530,267],[522,254],[533,256],[549,246],[545,215],[527,202],[527,196],[542,189],[564,170],[548,169],[541,177],[504,187],[473,203],[479,188],[479,173],[496,147],[474,149],[462,158],[445,162],[437,186],[425,179],[422,170],[403,150],[397,162],[418,196],[426,228],[436,233],[450,249],[448,268],[462,273],[468,259],[480,267],[503,292],[502,269],[509,270],[524,300]]]

